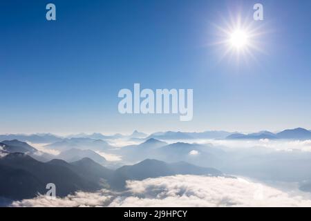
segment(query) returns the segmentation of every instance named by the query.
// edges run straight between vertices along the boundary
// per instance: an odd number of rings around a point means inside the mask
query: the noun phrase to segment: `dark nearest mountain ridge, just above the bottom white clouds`
[[[11,200],[45,194],[48,183],[55,184],[57,196],[64,197],[75,191],[124,189],[126,180],[176,174],[222,175],[216,169],[202,168],[185,162],[167,164],[158,160],[144,160],[113,171],[89,158],[72,163],[64,160],[44,163],[24,153],[9,153],[0,157],[0,171],[0,195]]]

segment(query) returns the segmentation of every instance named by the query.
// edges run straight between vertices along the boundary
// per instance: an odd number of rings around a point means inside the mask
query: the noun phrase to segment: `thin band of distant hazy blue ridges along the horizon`
[[[260,140],[260,139],[302,139],[311,140],[311,130],[305,128],[285,129],[279,132],[259,131],[256,133],[240,133],[229,131],[199,131],[199,132],[186,132],[186,131],[157,131],[154,133],[142,133],[137,130],[129,134],[111,133],[105,135],[102,133],[71,133],[68,135],[55,135],[52,133],[3,133],[0,134],[0,140],[21,140],[35,142],[37,144],[47,144],[51,142],[61,141],[70,138],[92,138],[96,140],[118,140],[129,138],[140,138],[140,140],[148,138],[163,139],[176,138],[176,139],[226,139],[226,140]]]

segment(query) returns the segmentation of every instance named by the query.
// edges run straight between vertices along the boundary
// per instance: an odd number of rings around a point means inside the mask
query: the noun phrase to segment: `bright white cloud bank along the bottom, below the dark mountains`
[[[12,206],[311,206],[301,195],[240,178],[176,175],[128,181],[127,187],[122,194],[103,190],[57,200],[40,196]]]

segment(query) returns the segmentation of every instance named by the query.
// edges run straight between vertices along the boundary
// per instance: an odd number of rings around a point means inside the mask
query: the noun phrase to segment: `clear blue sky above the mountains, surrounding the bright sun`
[[[254,3],[264,21],[252,21]],[[55,3],[57,21],[46,21]],[[1,1],[0,133],[311,128],[310,1]],[[236,61],[241,15],[263,52]],[[216,26],[215,26],[216,25]],[[120,115],[122,88],[193,88],[194,119]]]

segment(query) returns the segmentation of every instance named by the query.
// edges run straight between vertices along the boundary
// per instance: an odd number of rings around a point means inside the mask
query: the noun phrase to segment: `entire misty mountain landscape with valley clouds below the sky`
[[[1,206],[311,206],[311,132],[0,135]],[[46,184],[56,185],[56,200]]]

